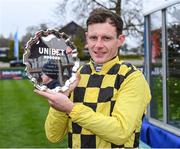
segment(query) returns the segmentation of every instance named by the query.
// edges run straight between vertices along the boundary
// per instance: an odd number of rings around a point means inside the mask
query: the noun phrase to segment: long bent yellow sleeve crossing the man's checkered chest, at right
[[[75,105],[69,116],[100,138],[117,145],[124,144],[141,122],[151,98],[144,76],[138,71],[128,76],[115,98],[112,116],[104,116],[82,104]]]

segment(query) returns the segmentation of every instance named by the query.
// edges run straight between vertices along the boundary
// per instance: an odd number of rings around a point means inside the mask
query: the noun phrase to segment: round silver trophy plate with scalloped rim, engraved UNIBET
[[[77,56],[77,48],[67,34],[57,30],[41,30],[27,42],[23,63],[35,88],[65,92],[76,80],[76,72],[80,66]],[[58,85],[49,88],[43,82],[44,74],[58,82]]]

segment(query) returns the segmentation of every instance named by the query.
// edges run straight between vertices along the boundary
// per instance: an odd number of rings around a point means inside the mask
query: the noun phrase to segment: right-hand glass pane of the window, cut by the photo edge
[[[180,128],[180,4],[167,9],[168,123]]]

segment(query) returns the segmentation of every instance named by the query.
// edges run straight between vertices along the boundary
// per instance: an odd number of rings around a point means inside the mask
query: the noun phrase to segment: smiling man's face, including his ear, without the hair
[[[124,42],[124,36],[117,36],[116,28],[108,22],[89,25],[86,39],[91,58],[98,64],[115,57]]]

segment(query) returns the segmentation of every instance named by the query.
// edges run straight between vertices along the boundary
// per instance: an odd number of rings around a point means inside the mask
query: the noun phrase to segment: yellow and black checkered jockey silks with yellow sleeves
[[[49,140],[56,142],[68,132],[69,148],[138,147],[142,116],[150,100],[142,73],[118,57],[100,72],[92,62],[79,72],[81,80],[70,97],[75,103],[70,115],[52,109],[48,114]]]

